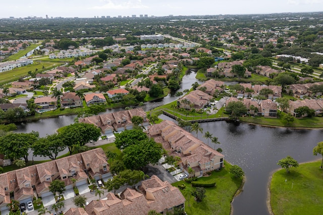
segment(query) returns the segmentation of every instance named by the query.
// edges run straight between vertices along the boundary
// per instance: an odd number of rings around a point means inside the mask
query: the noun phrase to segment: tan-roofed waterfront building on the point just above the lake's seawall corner
[[[177,106],[179,108],[185,108],[191,110],[192,108],[201,109],[208,104],[212,96],[200,91],[194,90],[188,95],[183,96],[177,100]]]

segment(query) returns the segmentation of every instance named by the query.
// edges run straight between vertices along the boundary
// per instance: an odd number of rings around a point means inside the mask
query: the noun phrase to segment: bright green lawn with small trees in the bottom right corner
[[[274,173],[270,188],[274,214],[322,214],[323,170],[319,168],[320,162],[301,164],[289,174],[285,169]]]

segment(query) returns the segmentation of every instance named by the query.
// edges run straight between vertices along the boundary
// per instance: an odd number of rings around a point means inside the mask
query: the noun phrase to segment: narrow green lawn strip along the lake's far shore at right
[[[280,111],[278,111],[280,112]],[[242,122],[249,122],[261,125],[270,126],[284,126],[284,127],[304,127],[304,128],[322,128],[323,117],[304,117],[301,119],[295,118],[293,122],[287,124],[287,121],[283,120],[283,116],[286,113],[282,112],[278,118],[265,118],[262,116],[255,117],[239,117]]]

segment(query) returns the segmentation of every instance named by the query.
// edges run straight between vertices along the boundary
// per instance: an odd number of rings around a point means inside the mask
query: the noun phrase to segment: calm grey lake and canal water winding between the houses
[[[194,73],[185,76],[180,91],[190,89],[194,82]],[[146,103],[144,109],[150,110],[176,99],[174,95],[169,95],[156,102]],[[118,110],[123,108],[106,112]],[[40,136],[45,136],[62,126],[72,124],[75,117],[76,115],[69,115],[24,122],[17,125],[18,129],[15,132],[34,130],[38,131]],[[161,115],[160,118],[172,120],[165,115]],[[226,121],[201,123],[201,126],[203,133],[209,131],[219,138],[221,145],[216,146],[216,149],[222,148],[225,159],[239,165],[245,171],[247,180],[243,192],[234,199],[234,214],[268,214],[265,204],[266,186],[272,172],[279,168],[278,160],[288,155],[299,163],[320,159],[313,156],[312,149],[317,142],[323,140],[323,129],[272,128],[245,123],[235,125]],[[206,143],[207,140],[202,136],[201,133],[198,134]],[[209,141],[209,145],[211,144]],[[43,159],[36,157],[34,160]]]

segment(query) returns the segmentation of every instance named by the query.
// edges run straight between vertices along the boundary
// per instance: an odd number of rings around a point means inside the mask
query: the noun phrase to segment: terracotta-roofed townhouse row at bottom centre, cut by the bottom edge
[[[92,200],[85,206],[85,211],[89,215],[144,215],[150,210],[166,214],[174,207],[184,210],[184,203],[185,198],[177,187],[152,175],[150,179],[142,181],[138,190],[126,188],[119,197],[109,192],[105,200]]]

